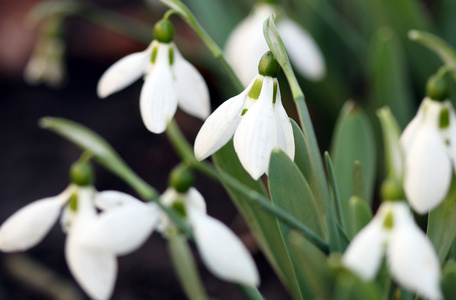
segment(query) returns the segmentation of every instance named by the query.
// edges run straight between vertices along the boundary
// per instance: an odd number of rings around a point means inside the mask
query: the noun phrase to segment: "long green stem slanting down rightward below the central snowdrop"
[[[238,192],[247,195],[249,201],[252,201],[254,204],[258,205],[264,211],[275,216],[284,224],[287,224],[291,228],[294,228],[297,231],[301,232],[311,243],[318,247],[323,253],[329,253],[328,245],[324,240],[322,240],[309,227],[299,222],[293,216],[289,215],[285,210],[271,204],[271,201],[269,201],[268,198],[248,188],[242,182],[228,175],[224,171],[215,169],[211,164],[197,161],[193,155],[192,148],[187,143],[185,137],[182,135],[182,133],[179,130],[179,127],[174,121],[171,121],[169,123],[166,133],[178,155],[180,155],[180,157],[186,163],[192,166],[195,170],[205,174],[206,176],[216,179],[219,182],[224,182],[227,186],[231,187],[232,189],[235,189]]]

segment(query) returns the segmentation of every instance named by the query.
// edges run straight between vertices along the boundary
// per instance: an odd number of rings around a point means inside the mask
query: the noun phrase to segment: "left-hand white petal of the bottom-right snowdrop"
[[[385,234],[381,218],[374,218],[353,238],[344,253],[342,264],[364,280],[377,274],[383,257]]]

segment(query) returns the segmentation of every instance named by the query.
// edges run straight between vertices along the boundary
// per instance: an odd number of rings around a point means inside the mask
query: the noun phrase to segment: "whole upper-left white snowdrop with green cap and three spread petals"
[[[105,98],[145,74],[140,111],[145,126],[154,133],[165,131],[178,104],[183,111],[202,120],[210,113],[206,83],[197,69],[182,57],[172,42],[173,34],[170,22],[158,22],[154,29],[155,40],[149,47],[112,65],[97,87],[98,96]]]

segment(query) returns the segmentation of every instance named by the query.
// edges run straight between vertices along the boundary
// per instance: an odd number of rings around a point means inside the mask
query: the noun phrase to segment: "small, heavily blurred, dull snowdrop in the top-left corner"
[[[66,77],[65,42],[60,36],[61,20],[50,20],[38,36],[32,56],[24,69],[24,80],[32,85],[42,82],[60,87]]]

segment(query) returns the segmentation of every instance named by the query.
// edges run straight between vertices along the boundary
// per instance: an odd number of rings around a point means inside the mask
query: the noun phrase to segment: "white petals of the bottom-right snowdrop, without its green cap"
[[[404,202],[383,202],[354,237],[342,263],[361,278],[372,280],[384,252],[388,269],[400,285],[425,298],[442,299],[438,257]]]

